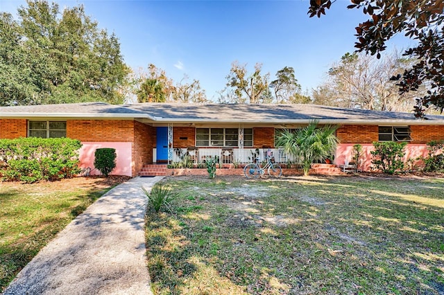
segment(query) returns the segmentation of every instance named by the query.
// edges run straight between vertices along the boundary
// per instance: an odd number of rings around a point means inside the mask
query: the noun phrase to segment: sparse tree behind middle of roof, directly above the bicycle
[[[239,103],[259,103],[267,100],[269,95],[268,80],[270,74],[262,75],[262,64],[255,64],[255,71],[248,75],[246,64],[240,65],[238,62],[231,64],[230,74],[226,77],[227,87],[234,89]],[[264,96],[266,94],[266,96]]]

